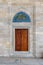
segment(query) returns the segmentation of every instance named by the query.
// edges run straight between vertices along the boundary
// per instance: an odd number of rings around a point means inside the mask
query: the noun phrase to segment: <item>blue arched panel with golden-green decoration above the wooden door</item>
[[[31,22],[31,20],[28,14],[21,11],[13,17],[13,22]]]

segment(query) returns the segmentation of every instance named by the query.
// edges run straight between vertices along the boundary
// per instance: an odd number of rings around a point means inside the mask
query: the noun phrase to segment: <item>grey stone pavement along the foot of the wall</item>
[[[43,65],[43,59],[0,57],[0,65]]]

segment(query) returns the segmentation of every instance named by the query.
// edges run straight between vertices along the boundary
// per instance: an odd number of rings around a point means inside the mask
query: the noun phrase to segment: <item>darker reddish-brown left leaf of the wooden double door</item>
[[[21,33],[20,30],[15,30],[15,50],[20,51],[21,49]]]

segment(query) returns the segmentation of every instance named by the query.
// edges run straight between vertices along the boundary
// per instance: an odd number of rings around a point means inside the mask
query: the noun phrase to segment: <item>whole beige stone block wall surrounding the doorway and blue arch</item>
[[[21,6],[21,8],[19,7]],[[30,6],[34,9],[34,14],[30,14],[26,9]],[[12,44],[10,37],[10,29],[12,18],[17,10],[28,12],[35,22],[35,39],[34,40],[34,54],[41,56],[43,51],[43,2],[31,2],[29,0],[15,1],[15,0],[0,0],[0,55],[10,55],[12,52]],[[33,12],[33,11],[32,11]],[[34,33],[33,33],[34,34]]]

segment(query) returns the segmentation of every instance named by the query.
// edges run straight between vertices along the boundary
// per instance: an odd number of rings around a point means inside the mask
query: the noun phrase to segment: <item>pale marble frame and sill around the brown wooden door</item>
[[[28,36],[28,37],[30,37],[30,46],[29,46],[29,48],[30,48],[30,50],[29,51],[15,51],[14,49],[15,49],[15,47],[14,47],[14,41],[15,41],[15,37],[14,37],[14,34],[15,34],[15,29],[28,29],[30,32],[29,32],[29,35],[30,36]],[[33,56],[33,42],[31,42],[31,40],[32,40],[32,38],[31,38],[31,30],[30,30],[30,28],[29,27],[24,27],[24,26],[12,26],[12,33],[11,33],[11,39],[12,39],[12,51],[13,51],[13,54],[11,54],[11,55],[13,55],[14,57],[34,57]],[[28,38],[29,39],[29,38]]]

